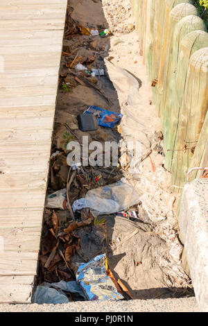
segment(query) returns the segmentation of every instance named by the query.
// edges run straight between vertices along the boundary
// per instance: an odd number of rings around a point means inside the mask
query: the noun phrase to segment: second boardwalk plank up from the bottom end
[[[35,275],[37,252],[0,252],[0,276]]]

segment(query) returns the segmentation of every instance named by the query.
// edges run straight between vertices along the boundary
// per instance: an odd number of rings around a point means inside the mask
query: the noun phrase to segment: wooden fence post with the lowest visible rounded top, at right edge
[[[187,181],[187,171],[191,164],[193,150],[199,140],[207,114],[207,89],[208,47],[193,53],[189,62],[187,83],[175,141],[175,151],[173,152],[171,175],[172,185],[179,187],[179,189],[182,189],[184,183]],[[196,151],[196,155],[197,153]]]

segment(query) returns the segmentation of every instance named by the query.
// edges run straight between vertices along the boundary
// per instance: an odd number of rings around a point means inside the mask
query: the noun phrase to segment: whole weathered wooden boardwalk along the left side
[[[0,2],[0,302],[31,302],[66,8]]]

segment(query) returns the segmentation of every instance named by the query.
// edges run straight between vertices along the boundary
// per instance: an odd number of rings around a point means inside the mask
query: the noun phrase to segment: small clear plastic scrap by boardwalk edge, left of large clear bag
[[[47,208],[67,209],[67,189],[62,189],[53,192],[46,197]]]

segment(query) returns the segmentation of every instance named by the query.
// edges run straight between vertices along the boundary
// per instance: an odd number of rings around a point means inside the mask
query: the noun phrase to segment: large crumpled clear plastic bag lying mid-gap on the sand
[[[87,191],[85,198],[75,200],[73,212],[89,207],[95,216],[113,214],[139,203],[139,194],[128,183],[121,180],[113,185]]]

